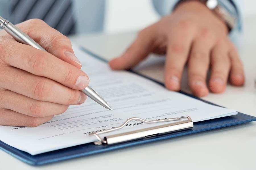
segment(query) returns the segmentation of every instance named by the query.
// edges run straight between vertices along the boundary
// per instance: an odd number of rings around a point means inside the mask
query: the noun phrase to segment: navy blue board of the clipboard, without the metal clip
[[[91,53],[90,51],[88,51],[84,48],[82,48],[82,50],[96,58],[103,60],[102,58],[96,56],[95,54]],[[131,71],[131,72],[133,72],[133,71]],[[152,80],[152,81],[154,81],[154,80]],[[162,84],[159,82],[156,82],[156,83]],[[180,93],[188,95],[189,97],[193,97],[198,100],[204,101],[204,100],[199,99],[193,95],[189,95],[184,92],[180,92]],[[215,105],[208,101],[204,101],[204,102]],[[205,120],[205,121],[201,121],[201,122],[195,122],[193,129],[178,131],[178,132],[174,132],[174,133],[168,133],[168,134],[164,134],[164,135],[149,137],[149,138],[145,138],[145,139],[139,139],[139,140],[135,140],[135,141],[129,141],[129,142],[125,142],[125,143],[119,143],[119,144],[115,144],[115,145],[94,145],[93,143],[88,143],[88,144],[73,146],[73,147],[64,148],[64,149],[60,149],[60,150],[55,150],[55,151],[51,151],[51,152],[46,152],[46,153],[42,153],[42,154],[38,154],[38,155],[34,155],[34,156],[30,155],[27,152],[18,150],[10,145],[7,145],[6,143],[3,143],[2,141],[0,141],[0,149],[11,154],[15,158],[18,158],[19,160],[30,164],[30,165],[44,165],[44,164],[63,161],[63,160],[71,159],[71,158],[78,158],[78,157],[82,157],[82,156],[89,156],[92,154],[126,148],[129,146],[141,145],[144,143],[160,141],[160,140],[164,140],[164,139],[170,139],[173,137],[179,137],[179,136],[198,133],[198,132],[202,132],[202,131],[208,131],[208,130],[212,130],[212,129],[218,129],[218,128],[223,128],[223,127],[227,127],[227,126],[237,125],[237,124],[243,124],[243,123],[252,122],[255,120],[256,120],[256,117],[254,117],[254,116],[250,116],[250,115],[238,112],[238,114],[234,115],[234,116],[227,116],[227,117],[222,117],[222,118]]]

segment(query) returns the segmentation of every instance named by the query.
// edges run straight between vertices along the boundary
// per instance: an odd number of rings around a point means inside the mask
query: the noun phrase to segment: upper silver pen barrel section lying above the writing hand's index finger
[[[9,33],[16,41],[22,44],[33,46],[39,50],[46,51],[36,41],[34,41],[32,38],[26,35],[23,31],[21,31],[18,27],[13,25],[11,22],[9,22],[3,29],[5,29],[5,31]]]

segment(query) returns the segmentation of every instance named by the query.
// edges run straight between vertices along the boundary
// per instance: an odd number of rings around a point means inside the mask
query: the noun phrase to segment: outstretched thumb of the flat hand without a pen
[[[142,30],[136,40],[121,57],[112,59],[109,62],[110,67],[112,69],[129,69],[146,58],[148,54],[154,49],[156,29],[157,24],[154,24]]]

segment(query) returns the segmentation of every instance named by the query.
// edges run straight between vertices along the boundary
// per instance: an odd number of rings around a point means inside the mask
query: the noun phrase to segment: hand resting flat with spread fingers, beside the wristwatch
[[[143,29],[127,51],[109,64],[112,69],[128,69],[150,52],[166,54],[164,81],[168,89],[180,90],[188,63],[188,82],[194,95],[205,96],[209,90],[221,93],[228,78],[235,86],[244,84],[241,61],[227,34],[225,23],[204,4],[183,2],[172,14]]]

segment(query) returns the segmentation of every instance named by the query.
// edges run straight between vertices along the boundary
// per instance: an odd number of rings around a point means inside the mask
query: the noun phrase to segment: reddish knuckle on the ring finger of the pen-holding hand
[[[33,117],[43,117],[46,110],[46,105],[44,102],[34,100],[30,105],[30,113]]]

